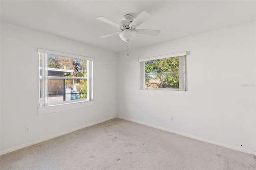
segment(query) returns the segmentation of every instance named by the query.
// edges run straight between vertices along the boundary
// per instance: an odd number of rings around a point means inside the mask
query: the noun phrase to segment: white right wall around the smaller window
[[[251,22],[118,53],[118,115],[255,151],[255,29]],[[182,51],[190,51],[188,91],[139,90],[138,59]]]

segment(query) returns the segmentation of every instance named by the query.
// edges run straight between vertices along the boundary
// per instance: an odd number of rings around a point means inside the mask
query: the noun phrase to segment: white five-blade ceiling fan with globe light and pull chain
[[[127,42],[127,51],[128,51],[129,43],[130,43],[130,41],[132,41],[135,38],[137,33],[138,34],[146,34],[146,35],[150,35],[150,36],[158,36],[158,34],[160,33],[160,30],[136,29],[136,27],[138,27],[140,24],[142,24],[143,22],[145,22],[146,20],[148,20],[151,17],[152,17],[152,15],[150,15],[146,11],[142,11],[135,19],[133,18],[132,15],[127,14],[127,15],[123,16],[123,20],[120,22],[120,24],[117,24],[116,22],[111,21],[108,18],[100,16],[96,19],[106,22],[112,26],[118,27],[121,30],[120,32],[114,32],[111,34],[100,36],[100,38],[107,38],[107,37],[119,34],[120,38],[122,40],[124,40],[125,42]],[[127,55],[128,55],[128,53],[127,53]]]

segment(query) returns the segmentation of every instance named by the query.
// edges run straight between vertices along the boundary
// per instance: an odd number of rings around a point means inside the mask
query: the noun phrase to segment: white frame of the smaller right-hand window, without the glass
[[[139,59],[140,62],[140,90],[169,90],[169,91],[186,91],[186,56],[187,51],[180,53],[172,53],[167,55],[159,55],[155,57],[148,57]],[[179,74],[179,89],[174,88],[146,88],[145,87],[145,61],[151,61],[155,59],[164,59],[171,57],[179,57],[179,72],[173,72]],[[180,62],[182,61],[182,62]],[[183,76],[180,76],[183,75]]]

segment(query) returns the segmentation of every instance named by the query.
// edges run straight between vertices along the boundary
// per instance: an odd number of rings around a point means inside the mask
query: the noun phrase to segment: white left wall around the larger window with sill
[[[37,115],[38,48],[95,58],[94,106]],[[1,22],[0,54],[1,150],[117,115],[116,53]]]

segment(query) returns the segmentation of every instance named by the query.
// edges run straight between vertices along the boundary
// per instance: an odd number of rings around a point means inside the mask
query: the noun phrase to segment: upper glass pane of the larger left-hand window
[[[48,76],[87,77],[87,60],[49,54]]]

